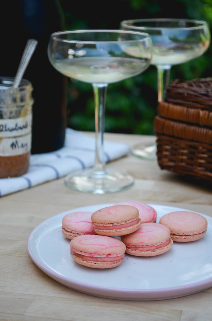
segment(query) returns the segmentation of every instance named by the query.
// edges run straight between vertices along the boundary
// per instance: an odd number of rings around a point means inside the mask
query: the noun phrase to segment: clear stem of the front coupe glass
[[[105,120],[105,100],[107,84],[93,84],[94,104],[95,104],[95,164],[93,168],[94,176],[105,174],[105,154],[103,146],[104,120]]]

